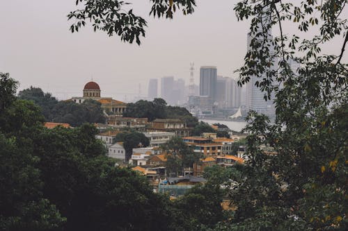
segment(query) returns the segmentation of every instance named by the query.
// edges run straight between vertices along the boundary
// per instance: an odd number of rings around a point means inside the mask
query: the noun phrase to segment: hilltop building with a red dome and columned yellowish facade
[[[111,97],[101,97],[100,86],[93,81],[86,83],[82,97],[72,97],[70,100],[74,101],[75,103],[84,103],[84,101],[88,99],[93,99],[102,103],[102,109],[104,112],[107,114],[114,114],[116,116],[122,116],[127,107],[127,103],[116,101]]]

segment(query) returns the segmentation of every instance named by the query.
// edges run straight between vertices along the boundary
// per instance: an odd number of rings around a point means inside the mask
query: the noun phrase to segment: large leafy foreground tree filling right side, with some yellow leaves
[[[348,69],[341,62],[348,33],[347,19],[340,16],[345,3],[264,0],[241,1],[235,7],[238,19],[251,18],[253,36],[239,83],[255,76],[265,99],[276,94],[276,120],[271,123],[256,112],[246,118],[249,161],[242,169],[244,178],[230,187],[237,210],[231,222],[216,230],[347,229],[342,178],[347,178]],[[283,23],[289,20],[304,32],[318,25],[319,34],[310,40],[288,37]],[[274,40],[272,26],[280,29]],[[340,53],[323,54],[321,44],[342,34]],[[290,60],[301,67],[292,70]],[[262,146],[277,154],[268,155]]]

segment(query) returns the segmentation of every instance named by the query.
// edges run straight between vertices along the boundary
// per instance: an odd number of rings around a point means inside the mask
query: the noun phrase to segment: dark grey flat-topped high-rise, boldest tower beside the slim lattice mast
[[[216,75],[217,69],[212,66],[200,67],[200,96],[207,96],[216,101]]]

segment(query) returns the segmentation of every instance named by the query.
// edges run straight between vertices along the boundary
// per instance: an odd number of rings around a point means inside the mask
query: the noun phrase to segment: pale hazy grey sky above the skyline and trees
[[[130,1],[130,0],[129,0]],[[248,22],[237,22],[237,0],[198,0],[196,12],[173,20],[148,16],[150,3],[133,0],[134,12],[148,21],[141,46],[93,32],[70,33],[66,15],[75,0],[0,0],[0,71],[19,80],[20,89],[42,87],[59,99],[80,96],[92,77],[102,96],[125,100],[147,94],[150,78],[174,76],[189,82],[189,63],[215,65],[218,74],[235,77],[246,52]],[[296,33],[288,26],[287,33]],[[276,33],[276,30],[274,31]],[[338,53],[340,40],[327,51]],[[347,54],[344,61],[347,62]]]

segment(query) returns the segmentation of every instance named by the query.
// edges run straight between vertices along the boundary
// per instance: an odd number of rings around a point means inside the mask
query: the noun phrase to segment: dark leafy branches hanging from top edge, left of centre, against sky
[[[154,17],[173,18],[173,12],[182,10],[184,15],[193,13],[196,6],[195,0],[150,0],[152,9],[150,15]],[[94,31],[106,32],[109,36],[118,35],[124,42],[132,43],[134,40],[141,44],[140,37],[145,37],[147,22],[142,17],[136,16],[133,10],[126,11],[124,7],[129,4],[118,0],[77,0],[76,5],[84,3],[84,8],[74,10],[68,14],[68,19],[74,19],[70,31],[74,33],[92,22]]]

